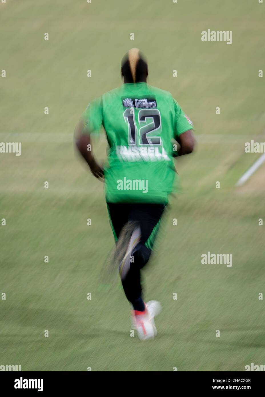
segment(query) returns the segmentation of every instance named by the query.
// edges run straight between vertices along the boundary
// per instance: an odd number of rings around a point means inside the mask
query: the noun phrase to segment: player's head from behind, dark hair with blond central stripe
[[[147,63],[138,48],[132,48],[121,61],[121,74],[128,83],[146,80],[148,75]]]

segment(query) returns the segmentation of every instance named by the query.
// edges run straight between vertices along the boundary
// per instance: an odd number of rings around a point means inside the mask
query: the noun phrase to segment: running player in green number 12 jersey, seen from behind
[[[176,176],[174,156],[194,148],[192,122],[171,94],[146,83],[148,66],[137,48],[123,58],[124,83],[93,100],[76,127],[76,144],[96,178],[104,179],[115,260],[132,306],[141,340],[156,334],[157,301],[144,303],[140,271],[148,262]],[[104,127],[108,165],[102,169],[91,149],[91,133]],[[181,148],[176,153],[172,140]]]

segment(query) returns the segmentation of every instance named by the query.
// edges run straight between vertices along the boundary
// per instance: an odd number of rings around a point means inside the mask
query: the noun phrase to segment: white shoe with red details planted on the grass
[[[141,341],[154,339],[157,335],[154,317],[161,312],[161,304],[157,301],[146,303],[144,314],[134,315],[132,310],[132,326],[137,330],[138,337]]]

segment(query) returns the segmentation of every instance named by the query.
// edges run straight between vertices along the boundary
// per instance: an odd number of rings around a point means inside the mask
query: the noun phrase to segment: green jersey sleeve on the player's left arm
[[[83,134],[99,133],[103,121],[102,97],[92,100],[82,115]]]

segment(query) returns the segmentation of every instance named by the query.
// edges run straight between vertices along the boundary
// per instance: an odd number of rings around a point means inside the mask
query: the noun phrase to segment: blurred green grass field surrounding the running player
[[[21,156],[0,153],[0,365],[244,371],[265,364],[265,226],[258,225],[265,164],[235,187],[260,156],[246,154],[244,143],[264,141],[264,7],[257,0],[0,3],[0,141],[22,143]],[[232,44],[202,42],[208,28],[232,31]],[[131,47],[146,54],[149,83],[171,91],[198,141],[177,163],[182,193],[171,199],[144,272],[147,300],[163,306],[157,338],[146,343],[130,337],[118,279],[101,283],[113,248],[103,185],[79,161],[72,135],[87,104],[121,84],[120,61]],[[103,160],[105,138],[95,146]],[[232,267],[202,264],[207,251],[232,254]]]

